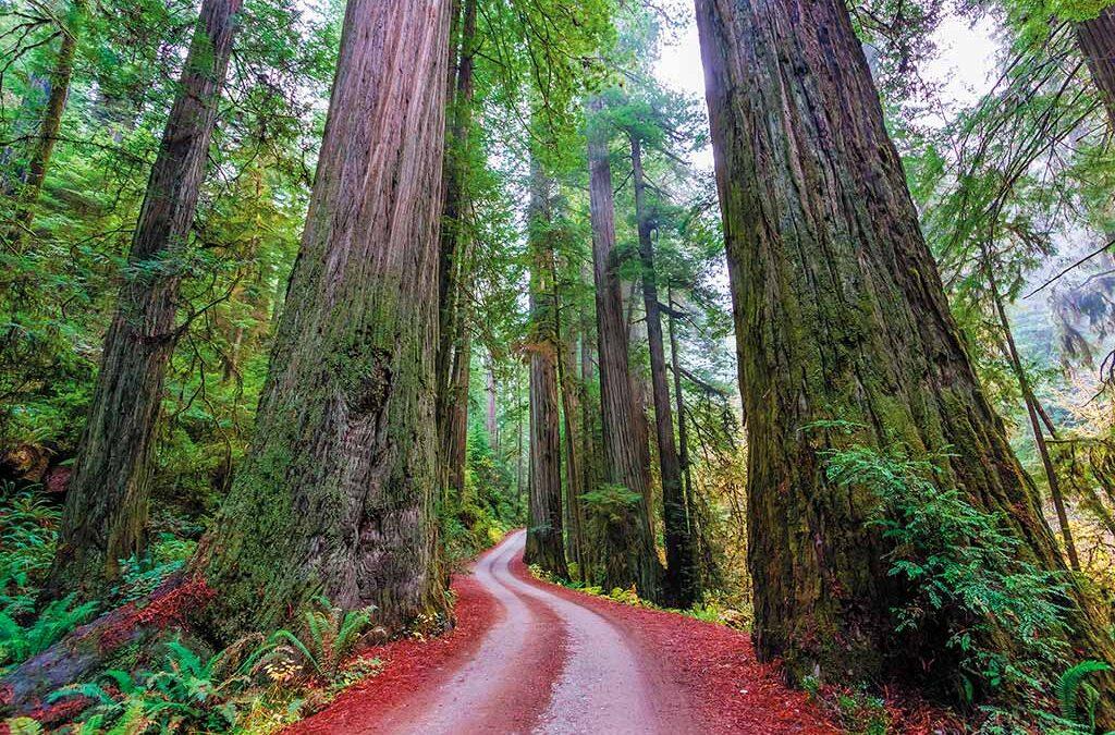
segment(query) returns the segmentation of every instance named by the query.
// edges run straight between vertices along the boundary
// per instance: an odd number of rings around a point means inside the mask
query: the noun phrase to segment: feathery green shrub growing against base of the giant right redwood
[[[840,424],[825,427],[849,434],[859,428]],[[830,481],[869,489],[879,499],[869,523],[893,545],[890,574],[911,589],[906,602],[892,610],[895,631],[947,621],[946,646],[959,661],[961,697],[993,703],[1009,693],[1012,702],[1025,703],[982,705],[981,732],[1026,733],[1039,719],[1075,726],[1054,714],[1058,673],[1070,655],[1067,574],[1022,559],[1001,514],[942,487],[947,454],[912,457],[901,446],[856,445],[822,455]]]

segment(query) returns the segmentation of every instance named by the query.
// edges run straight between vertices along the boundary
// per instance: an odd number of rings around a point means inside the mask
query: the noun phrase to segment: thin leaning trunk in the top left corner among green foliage
[[[35,206],[42,192],[42,183],[47,180],[50,157],[58,142],[58,133],[62,126],[62,113],[66,112],[66,98],[69,97],[70,77],[74,75],[74,52],[77,50],[77,30],[75,22],[85,14],[86,0],[74,0],[67,23],[59,29],[62,40],[55,58],[55,67],[50,71],[50,95],[47,107],[42,110],[42,122],[31,151],[31,159],[27,166],[27,180],[19,193],[19,204],[12,217],[14,224],[10,229],[9,240],[12,250],[22,251],[23,240],[30,234],[31,222],[35,220]]]

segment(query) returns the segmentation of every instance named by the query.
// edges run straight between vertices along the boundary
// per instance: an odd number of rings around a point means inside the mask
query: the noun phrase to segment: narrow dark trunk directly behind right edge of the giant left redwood
[[[454,352],[460,349],[467,339],[468,325],[463,315],[463,284],[467,279],[468,231],[466,221],[467,209],[467,174],[468,174],[468,138],[473,122],[473,70],[476,54],[476,0],[463,0],[463,17],[460,22],[460,52],[457,58],[455,75],[450,70],[450,81],[454,84],[452,105],[449,106],[450,123],[446,134],[445,181],[442,192],[442,231],[438,249],[438,319],[440,339],[437,346],[437,425],[438,441],[443,458],[439,483],[446,496],[458,496],[463,485],[456,477],[463,476],[464,466],[456,466],[457,454],[454,437],[454,425],[459,419],[455,416],[455,405],[459,400],[454,389],[454,371],[456,361]],[[467,410],[467,407],[465,408]],[[467,418],[466,418],[467,422]],[[448,483],[448,484],[446,484]]]

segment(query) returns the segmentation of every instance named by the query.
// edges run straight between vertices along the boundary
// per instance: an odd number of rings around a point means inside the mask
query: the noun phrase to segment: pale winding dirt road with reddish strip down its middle
[[[391,735],[697,733],[661,661],[617,621],[516,574],[525,534],[511,534],[473,578],[503,608],[466,664],[366,728]],[[351,726],[351,725],[350,725]]]

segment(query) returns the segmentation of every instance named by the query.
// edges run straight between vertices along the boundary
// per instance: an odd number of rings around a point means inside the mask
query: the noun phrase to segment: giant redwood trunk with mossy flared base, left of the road
[[[448,0],[350,0],[255,434],[191,572],[217,637],[318,596],[398,629],[436,571],[437,241]]]

